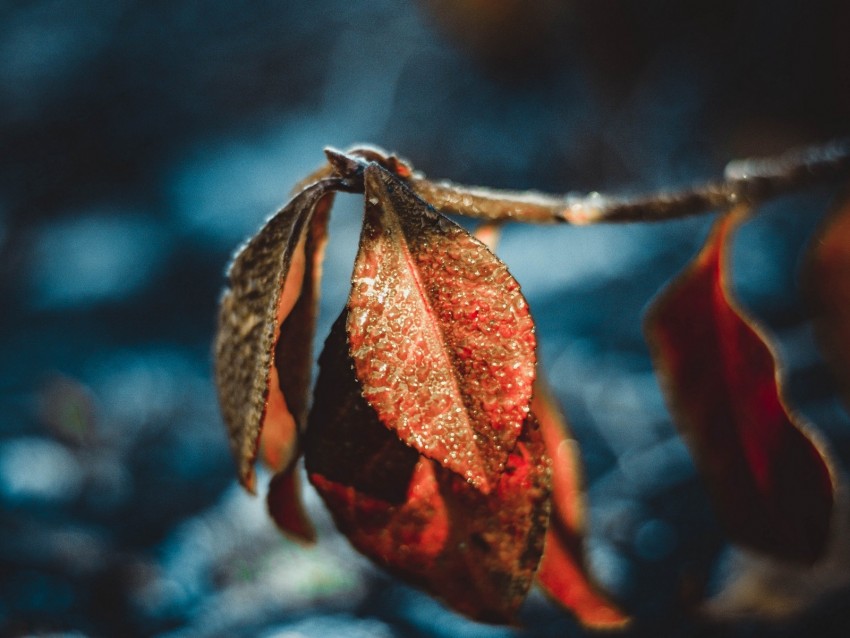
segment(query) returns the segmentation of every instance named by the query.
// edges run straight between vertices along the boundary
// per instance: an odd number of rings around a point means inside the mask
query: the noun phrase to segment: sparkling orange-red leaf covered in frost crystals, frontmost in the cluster
[[[484,492],[529,413],[534,324],[505,265],[375,163],[348,300],[363,394],[380,421]]]

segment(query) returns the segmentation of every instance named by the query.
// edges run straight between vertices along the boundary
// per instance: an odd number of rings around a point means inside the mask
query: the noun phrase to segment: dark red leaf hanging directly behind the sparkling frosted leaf
[[[549,467],[532,417],[489,494],[403,443],[352,372],[346,317],[319,361],[308,476],[340,531],[378,564],[476,619],[513,618],[549,515]]]

